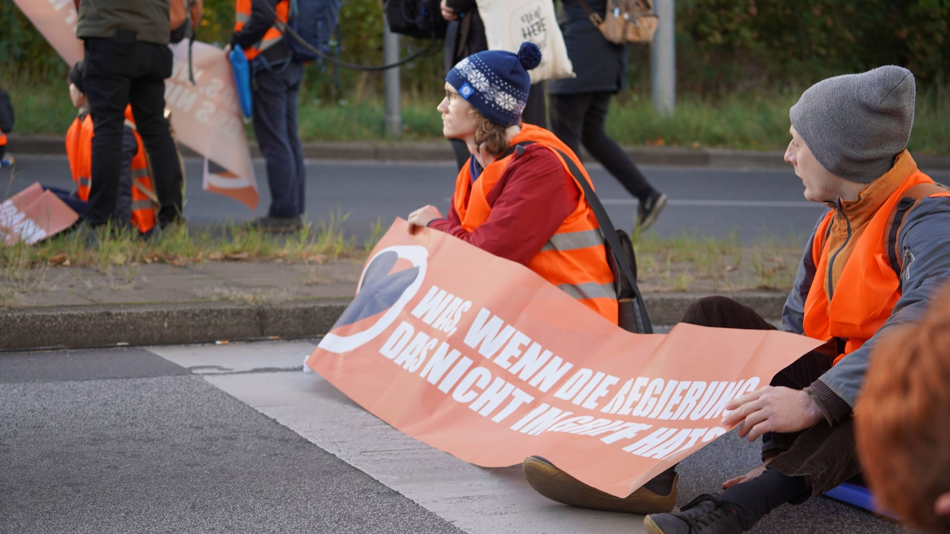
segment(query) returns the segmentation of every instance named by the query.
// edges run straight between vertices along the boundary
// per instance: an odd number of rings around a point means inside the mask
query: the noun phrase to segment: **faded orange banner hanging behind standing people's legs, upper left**
[[[83,59],[83,42],[76,38],[78,16],[73,0],[13,1],[67,65]],[[230,62],[223,50],[196,42],[192,86],[188,80],[187,43],[171,48],[175,63],[172,77],[165,80],[165,106],[172,111],[172,127],[179,141],[205,158],[201,188],[257,209],[257,178]],[[63,95],[66,98],[65,90]]]

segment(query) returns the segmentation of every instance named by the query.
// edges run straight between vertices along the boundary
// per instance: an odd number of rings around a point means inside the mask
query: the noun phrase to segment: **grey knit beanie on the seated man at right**
[[[829,172],[870,183],[890,170],[914,124],[914,75],[888,65],[818,82],[788,118]]]

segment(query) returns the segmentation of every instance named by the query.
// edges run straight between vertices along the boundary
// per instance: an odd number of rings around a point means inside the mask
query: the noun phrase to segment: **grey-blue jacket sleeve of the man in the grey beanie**
[[[843,358],[818,381],[845,400],[853,410],[864,383],[871,349],[896,325],[918,319],[940,285],[950,279],[950,201],[947,198],[922,199],[907,214],[898,238],[903,256],[902,295],[883,327],[864,346]]]

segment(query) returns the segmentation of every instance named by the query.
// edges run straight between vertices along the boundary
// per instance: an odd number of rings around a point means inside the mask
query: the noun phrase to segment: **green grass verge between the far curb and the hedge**
[[[69,103],[65,81],[30,84],[11,81],[16,108],[16,132],[65,135],[76,111]],[[678,95],[675,113],[656,112],[649,96],[625,91],[611,105],[607,131],[618,143],[784,150],[788,145],[788,107],[800,91],[747,92],[722,98]],[[442,121],[435,107],[441,96],[409,95],[402,103],[402,141],[442,139]],[[323,101],[301,96],[300,137],[304,141],[360,142],[388,138],[385,105],[367,96],[353,101]],[[248,127],[249,136],[253,137]],[[950,87],[921,91],[917,96],[914,132],[909,147],[921,154],[945,154],[950,146]],[[16,153],[15,143],[10,152]]]

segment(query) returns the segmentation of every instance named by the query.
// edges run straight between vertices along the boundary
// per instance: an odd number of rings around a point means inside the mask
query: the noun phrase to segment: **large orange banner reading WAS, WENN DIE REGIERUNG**
[[[538,454],[617,496],[702,448],[734,397],[821,344],[677,325],[631,334],[523,265],[397,219],[307,365],[482,467]]]

